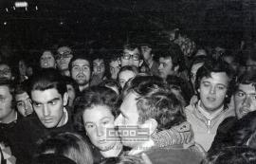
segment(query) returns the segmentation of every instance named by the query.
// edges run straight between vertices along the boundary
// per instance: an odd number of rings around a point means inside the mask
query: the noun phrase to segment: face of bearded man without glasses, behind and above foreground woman
[[[79,85],[86,85],[91,78],[91,69],[88,61],[78,59],[72,63],[71,77]]]

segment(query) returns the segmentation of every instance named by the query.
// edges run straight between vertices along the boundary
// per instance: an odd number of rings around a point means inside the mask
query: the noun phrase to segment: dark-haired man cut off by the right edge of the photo
[[[218,150],[222,145],[231,144],[235,122],[256,110],[256,72],[247,71],[241,75],[233,94],[235,116],[226,118],[218,127],[217,135],[210,151]]]

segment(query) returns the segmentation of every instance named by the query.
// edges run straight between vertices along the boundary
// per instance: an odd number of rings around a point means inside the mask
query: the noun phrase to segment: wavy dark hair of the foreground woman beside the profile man
[[[118,115],[119,95],[105,86],[92,86],[82,91],[81,96],[74,102],[74,109],[76,109],[75,127],[79,131],[84,131],[82,121],[84,111],[97,105],[108,107],[113,116],[116,117]]]

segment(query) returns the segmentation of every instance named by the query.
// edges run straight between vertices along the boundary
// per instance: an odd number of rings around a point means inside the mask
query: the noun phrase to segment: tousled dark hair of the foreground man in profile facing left
[[[158,130],[170,129],[185,121],[181,100],[171,92],[169,86],[155,76],[137,76],[131,80],[128,93],[137,94],[138,121],[143,123],[154,118]]]

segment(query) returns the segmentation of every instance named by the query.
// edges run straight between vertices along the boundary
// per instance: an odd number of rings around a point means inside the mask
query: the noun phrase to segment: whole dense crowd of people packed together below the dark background
[[[0,163],[256,163],[255,47],[169,32],[165,45],[44,49],[37,64],[2,56]]]

